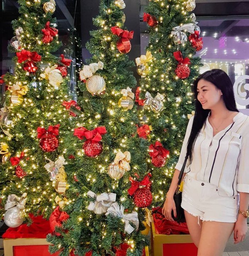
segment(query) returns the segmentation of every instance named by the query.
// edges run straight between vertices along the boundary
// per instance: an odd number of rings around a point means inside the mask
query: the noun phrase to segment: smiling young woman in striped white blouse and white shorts
[[[221,256],[234,231],[245,239],[249,203],[249,116],[236,108],[228,75],[213,69],[193,85],[195,115],[189,120],[181,154],[162,213],[176,215],[173,194],[186,154],[182,208],[198,256]],[[249,248],[248,248],[249,250]]]

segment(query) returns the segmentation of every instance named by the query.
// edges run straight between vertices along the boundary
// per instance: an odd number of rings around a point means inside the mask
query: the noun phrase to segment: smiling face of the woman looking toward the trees
[[[222,92],[214,84],[201,79],[197,85],[197,99],[203,109],[213,109],[221,101]]]

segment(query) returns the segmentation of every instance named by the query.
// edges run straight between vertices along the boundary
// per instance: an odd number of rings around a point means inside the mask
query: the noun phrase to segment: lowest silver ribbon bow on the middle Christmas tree
[[[120,217],[125,222],[125,231],[128,234],[131,234],[134,231],[134,228],[130,224],[133,223],[136,226],[136,230],[139,228],[139,220],[138,220],[138,213],[132,212],[128,214],[124,214],[125,208],[119,206],[117,202],[113,203],[107,210],[105,215],[112,214],[116,217]]]

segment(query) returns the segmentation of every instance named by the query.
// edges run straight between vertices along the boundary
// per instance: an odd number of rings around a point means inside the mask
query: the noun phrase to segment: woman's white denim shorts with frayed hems
[[[222,196],[221,196],[222,195]],[[182,208],[203,221],[236,222],[239,195],[228,197],[224,190],[186,175],[182,192]]]

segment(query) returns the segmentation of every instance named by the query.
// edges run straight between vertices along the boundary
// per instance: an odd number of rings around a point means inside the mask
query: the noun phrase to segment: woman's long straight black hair
[[[225,102],[226,108],[230,111],[236,111],[236,103],[234,98],[234,92],[233,92],[233,85],[229,78],[229,76],[221,69],[212,69],[210,71],[206,71],[205,73],[198,76],[198,78],[194,81],[192,92],[194,94],[194,100],[195,100],[195,115],[193,120],[193,126],[191,129],[191,133],[188,140],[187,145],[187,156],[190,156],[190,160],[192,160],[192,150],[193,145],[195,142],[195,139],[197,138],[197,135],[200,131],[200,129],[203,127],[203,124],[210,112],[210,110],[205,110],[202,108],[201,103],[197,99],[197,85],[198,82],[204,79],[208,82],[211,82],[214,84],[217,89],[220,89],[222,92],[223,101]]]

